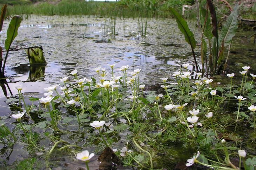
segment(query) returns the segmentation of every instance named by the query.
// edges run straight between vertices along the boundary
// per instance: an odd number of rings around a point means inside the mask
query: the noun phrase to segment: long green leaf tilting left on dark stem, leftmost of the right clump
[[[182,18],[182,16],[174,9],[174,8],[169,8],[171,13],[176,19],[176,22],[178,24],[178,28],[181,30],[183,35],[185,36],[186,42],[191,46],[192,49],[195,49],[196,47],[196,40],[194,38],[194,34],[190,31],[188,28],[188,24],[186,20]]]

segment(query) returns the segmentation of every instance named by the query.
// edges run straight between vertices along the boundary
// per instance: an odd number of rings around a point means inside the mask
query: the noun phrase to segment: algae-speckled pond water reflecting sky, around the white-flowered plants
[[[6,30],[9,21],[5,21],[4,28],[0,34],[1,46],[4,46]],[[18,91],[15,85],[19,82],[23,84],[22,93],[27,104],[32,101],[28,97],[41,98],[44,88],[59,82],[62,77],[70,76],[70,72],[78,69],[79,78],[95,75],[93,68],[105,67],[111,71],[108,64],[116,64],[114,69],[121,75],[119,68],[129,65],[132,69],[141,68],[140,81],[146,84],[146,90],[157,90],[162,82],[161,77],[171,77],[173,72],[179,71],[183,63],[189,63],[189,70],[194,71],[193,56],[190,46],[184,40],[184,36],[177,28],[177,24],[171,19],[150,19],[148,22],[147,37],[140,36],[137,20],[117,19],[115,37],[108,32],[108,25],[113,22],[110,19],[94,17],[62,17],[62,16],[31,16],[23,20],[19,28],[12,47],[31,47],[40,45],[43,47],[47,66],[30,67],[25,51],[12,51],[9,53],[6,66],[6,75],[9,76],[7,83],[0,90],[0,116],[7,116],[7,126],[12,128],[14,120],[9,117],[13,110],[7,101],[13,96],[18,98]],[[199,42],[200,32],[195,29],[195,23],[189,22],[190,28]],[[256,46],[249,36],[251,31],[239,30],[233,40],[228,72],[238,73],[237,67],[251,66],[250,73],[256,73]],[[196,47],[197,60],[200,61],[199,46]],[[246,59],[245,59],[246,58]],[[131,70],[132,70],[131,69]],[[193,72],[193,76],[195,73]],[[192,76],[192,78],[193,78]],[[217,76],[217,81],[229,81],[226,77]],[[222,80],[221,80],[222,79]],[[241,77],[235,79],[240,80]],[[8,86],[8,87],[7,87]],[[38,102],[38,101],[36,101]],[[35,103],[38,104],[38,103]],[[72,114],[69,114],[72,116]],[[73,115],[75,117],[75,114]],[[121,120],[124,121],[124,120]],[[110,124],[108,122],[107,124]],[[71,131],[75,130],[75,124],[63,127]],[[40,130],[38,131],[40,132]],[[120,145],[122,148],[125,137],[129,131],[120,134]],[[70,134],[69,134],[70,135]],[[70,136],[62,136],[62,139],[72,141]],[[43,146],[51,146],[51,141],[41,140]],[[77,142],[76,145],[82,145]],[[0,144],[5,154],[1,155],[6,164],[12,164],[16,160],[23,160],[27,157],[37,156],[39,162],[41,153],[30,155],[26,149],[22,149],[22,143],[14,145],[10,150],[5,150]],[[94,151],[95,147],[88,147],[89,151]],[[184,155],[193,151],[179,150]],[[89,166],[92,169],[99,167],[97,154]],[[181,154],[182,155],[182,154]],[[189,154],[190,155],[190,154]],[[181,160],[186,162],[188,156]],[[55,163],[55,169],[78,169],[82,163],[74,162],[67,153],[54,153],[50,159]],[[171,162],[171,161],[170,161]],[[174,164],[174,163],[172,163]],[[119,167],[118,169],[123,169]],[[124,168],[125,169],[125,168]],[[127,169],[127,168],[126,168]],[[128,168],[129,169],[129,168]]]

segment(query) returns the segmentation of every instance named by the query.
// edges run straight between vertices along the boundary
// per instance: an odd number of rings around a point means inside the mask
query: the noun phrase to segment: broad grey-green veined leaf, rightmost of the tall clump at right
[[[231,43],[232,38],[236,34],[238,28],[238,6],[236,5],[234,10],[228,16],[227,22],[221,29],[221,34],[219,38],[219,44],[224,42],[224,46],[228,46]]]

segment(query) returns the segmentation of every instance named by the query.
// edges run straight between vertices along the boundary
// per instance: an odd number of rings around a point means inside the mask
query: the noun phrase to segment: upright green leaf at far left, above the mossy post
[[[20,27],[21,20],[21,17],[19,15],[16,15],[9,23],[9,27],[7,29],[7,38],[5,40],[6,51],[10,49],[14,38],[18,35],[18,28]]]

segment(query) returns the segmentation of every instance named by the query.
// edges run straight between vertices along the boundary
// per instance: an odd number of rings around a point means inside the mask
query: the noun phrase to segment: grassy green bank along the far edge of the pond
[[[232,7],[235,0],[229,0]],[[253,0],[238,1],[239,16],[256,20],[256,2]],[[118,2],[95,2],[84,0],[0,0],[0,4],[8,4],[7,16],[12,15],[94,15],[97,17],[171,17],[169,7],[182,13],[182,5],[193,5],[194,0],[120,0]],[[220,0],[214,0],[217,14],[229,15],[229,9]],[[223,15],[224,14],[224,15]],[[185,17],[195,18],[195,8],[188,9]]]

